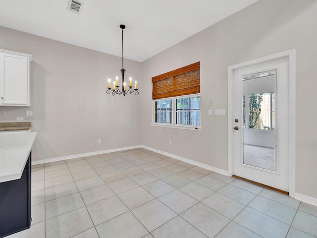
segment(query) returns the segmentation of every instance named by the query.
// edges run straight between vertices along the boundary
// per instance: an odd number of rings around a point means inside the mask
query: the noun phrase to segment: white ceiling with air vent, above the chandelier
[[[258,0],[0,0],[0,25],[144,61]]]

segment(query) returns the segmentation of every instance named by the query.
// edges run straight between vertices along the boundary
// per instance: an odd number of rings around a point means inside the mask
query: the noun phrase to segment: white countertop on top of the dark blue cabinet
[[[21,178],[36,134],[0,133],[0,182]]]

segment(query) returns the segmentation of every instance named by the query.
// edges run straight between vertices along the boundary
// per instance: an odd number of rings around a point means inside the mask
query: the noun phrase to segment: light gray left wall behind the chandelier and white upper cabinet
[[[33,56],[31,107],[0,107],[0,120],[32,121],[33,160],[140,144],[141,97],[106,95],[107,79],[121,78],[121,58],[3,27],[0,36],[0,49]],[[124,63],[142,90],[141,63]]]

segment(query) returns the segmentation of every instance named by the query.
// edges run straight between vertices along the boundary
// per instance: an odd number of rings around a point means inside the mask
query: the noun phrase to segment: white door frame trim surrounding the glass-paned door
[[[289,65],[289,107],[288,107],[288,115],[289,115],[289,137],[288,137],[288,181],[289,181],[289,196],[295,196],[295,49],[281,52],[278,54],[266,56],[263,58],[259,58],[256,60],[250,60],[242,63],[238,63],[235,65],[228,66],[228,176],[233,175],[233,132],[234,132],[234,121],[233,121],[233,107],[234,107],[234,98],[233,98],[233,82],[234,82],[234,70],[256,65],[259,63],[269,62],[272,60],[278,60],[281,58],[285,58],[288,61]]]

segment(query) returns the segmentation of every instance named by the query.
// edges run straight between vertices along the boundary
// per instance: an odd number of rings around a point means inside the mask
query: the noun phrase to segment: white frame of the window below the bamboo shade
[[[201,94],[197,93],[197,94],[182,95],[182,96],[177,96],[177,97],[152,99],[152,123],[151,123],[151,125],[152,126],[160,126],[160,127],[169,127],[169,128],[201,131],[202,130],[201,121],[200,121],[200,125],[186,125],[186,124],[177,124],[176,123],[176,108],[177,108],[176,100],[180,99],[180,98],[193,98],[193,97],[200,97],[201,98]],[[172,100],[172,123],[155,122],[155,113],[156,113],[155,102],[162,101],[162,100]],[[201,109],[199,111],[201,113]]]

